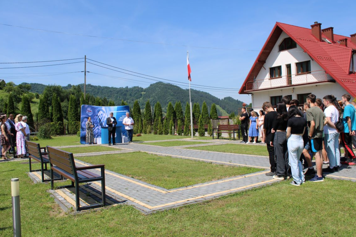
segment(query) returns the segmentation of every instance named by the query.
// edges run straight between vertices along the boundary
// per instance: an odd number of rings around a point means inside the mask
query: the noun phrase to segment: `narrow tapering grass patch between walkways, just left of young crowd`
[[[266,146],[261,145],[245,145],[245,144],[223,144],[214,146],[197,146],[187,147],[184,149],[203,150],[203,151],[218,151],[256,156],[268,156]]]

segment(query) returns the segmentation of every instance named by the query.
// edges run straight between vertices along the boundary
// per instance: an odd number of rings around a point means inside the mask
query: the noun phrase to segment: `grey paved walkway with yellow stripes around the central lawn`
[[[194,140],[197,141],[197,140]],[[204,140],[202,140],[204,141]],[[237,141],[206,141],[210,144],[199,144],[189,146],[204,146],[204,145],[220,145],[226,143],[239,143]],[[257,145],[257,144],[253,144]],[[145,214],[149,214],[159,210],[166,210],[191,203],[197,203],[208,199],[217,198],[231,193],[240,192],[242,190],[261,187],[263,185],[278,182],[265,173],[269,172],[268,157],[239,155],[233,153],[211,152],[183,149],[182,147],[161,147],[150,145],[150,142],[140,142],[131,144],[120,144],[119,147],[123,150],[115,151],[115,153],[125,153],[142,151],[163,156],[171,156],[177,158],[186,158],[192,160],[200,160],[205,162],[213,162],[224,165],[249,166],[265,169],[262,172],[246,174],[243,176],[221,179],[219,181],[196,184],[188,187],[177,189],[164,189],[149,183],[139,181],[137,179],[124,176],[112,171],[105,171],[105,183],[108,205],[119,205],[122,203],[133,205]],[[95,152],[95,155],[104,152]],[[75,155],[80,159],[80,156],[93,155],[93,153],[82,153]],[[78,159],[75,160],[77,166],[90,165]],[[93,172],[100,173],[99,170]],[[48,175],[48,174],[46,174]],[[30,173],[33,180],[38,181],[39,174],[36,172]],[[37,177],[37,178],[36,178]],[[332,175],[327,175],[330,178],[347,179],[356,181],[356,168],[343,166],[339,172]],[[80,205],[90,205],[97,201],[100,202],[100,182],[93,182],[80,187]],[[72,210],[75,206],[75,196],[73,189],[58,189],[52,191],[57,203],[64,210]]]

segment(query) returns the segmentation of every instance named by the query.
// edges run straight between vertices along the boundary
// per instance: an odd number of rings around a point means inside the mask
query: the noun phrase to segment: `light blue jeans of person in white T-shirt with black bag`
[[[329,158],[329,166],[340,166],[339,133],[324,134],[325,150]]]

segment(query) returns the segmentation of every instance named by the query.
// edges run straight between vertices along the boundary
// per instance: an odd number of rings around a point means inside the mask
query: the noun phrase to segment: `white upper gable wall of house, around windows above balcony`
[[[279,36],[276,45],[274,45],[272,52],[269,54],[266,63],[263,64],[261,71],[258,73],[256,80],[265,80],[269,81],[269,68],[282,66],[282,76],[287,75],[286,64],[290,64],[292,67],[292,75],[297,74],[296,63],[309,61],[310,60],[310,69],[312,71],[324,72],[324,70],[313,61],[307,53],[303,52],[303,49],[297,44],[297,48],[283,50],[279,52],[279,44],[283,41],[283,39],[288,38],[289,36],[282,32],[281,36]],[[293,76],[292,76],[293,77]],[[276,79],[272,79],[276,80]]]

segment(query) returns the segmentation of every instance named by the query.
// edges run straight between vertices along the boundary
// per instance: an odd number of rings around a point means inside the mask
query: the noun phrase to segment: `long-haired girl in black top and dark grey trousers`
[[[287,149],[287,123],[288,112],[284,102],[277,104],[277,118],[273,125],[274,131],[274,156],[276,157],[276,175],[274,179],[284,180],[287,178],[288,164],[288,149]]]

